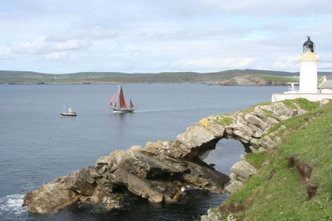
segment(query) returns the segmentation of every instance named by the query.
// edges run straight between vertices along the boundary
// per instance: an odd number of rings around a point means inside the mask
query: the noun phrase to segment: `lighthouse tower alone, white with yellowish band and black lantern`
[[[317,62],[319,56],[314,52],[314,42],[308,40],[303,44],[300,54],[300,93],[317,93]]]

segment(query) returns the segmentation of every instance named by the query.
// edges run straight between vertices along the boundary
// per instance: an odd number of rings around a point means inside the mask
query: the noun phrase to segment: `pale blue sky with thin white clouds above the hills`
[[[0,0],[0,70],[332,71],[332,1]]]

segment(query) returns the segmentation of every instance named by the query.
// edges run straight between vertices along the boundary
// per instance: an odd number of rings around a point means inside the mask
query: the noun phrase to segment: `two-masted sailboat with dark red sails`
[[[119,106],[118,106],[118,98],[119,98]],[[126,100],[124,100],[124,90],[122,90],[122,86],[119,85],[119,94],[114,93],[111,97],[111,100],[108,102],[108,107],[112,108],[112,102],[114,101],[113,112],[114,113],[131,113],[134,112],[134,103],[130,99],[130,105],[127,107]]]

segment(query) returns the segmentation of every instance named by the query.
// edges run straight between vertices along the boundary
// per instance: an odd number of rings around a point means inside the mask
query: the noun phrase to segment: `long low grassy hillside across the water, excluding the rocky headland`
[[[132,74],[119,72],[45,74],[29,71],[0,71],[0,83],[214,83],[247,73],[268,76],[298,75],[298,73],[262,70],[228,70],[214,73],[162,72]]]

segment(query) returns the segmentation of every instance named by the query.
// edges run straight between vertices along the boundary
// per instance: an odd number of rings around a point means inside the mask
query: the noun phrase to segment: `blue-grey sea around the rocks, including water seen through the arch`
[[[0,85],[0,220],[194,220],[227,196],[193,190],[179,203],[152,204],[129,198],[116,210],[78,203],[53,215],[21,208],[27,191],[69,174],[115,149],[146,141],[174,140],[187,126],[211,114],[235,112],[271,100],[281,87],[124,85],[133,114],[112,114],[117,85]],[[72,107],[78,117],[60,117]],[[244,153],[224,140],[206,159],[225,174]]]

